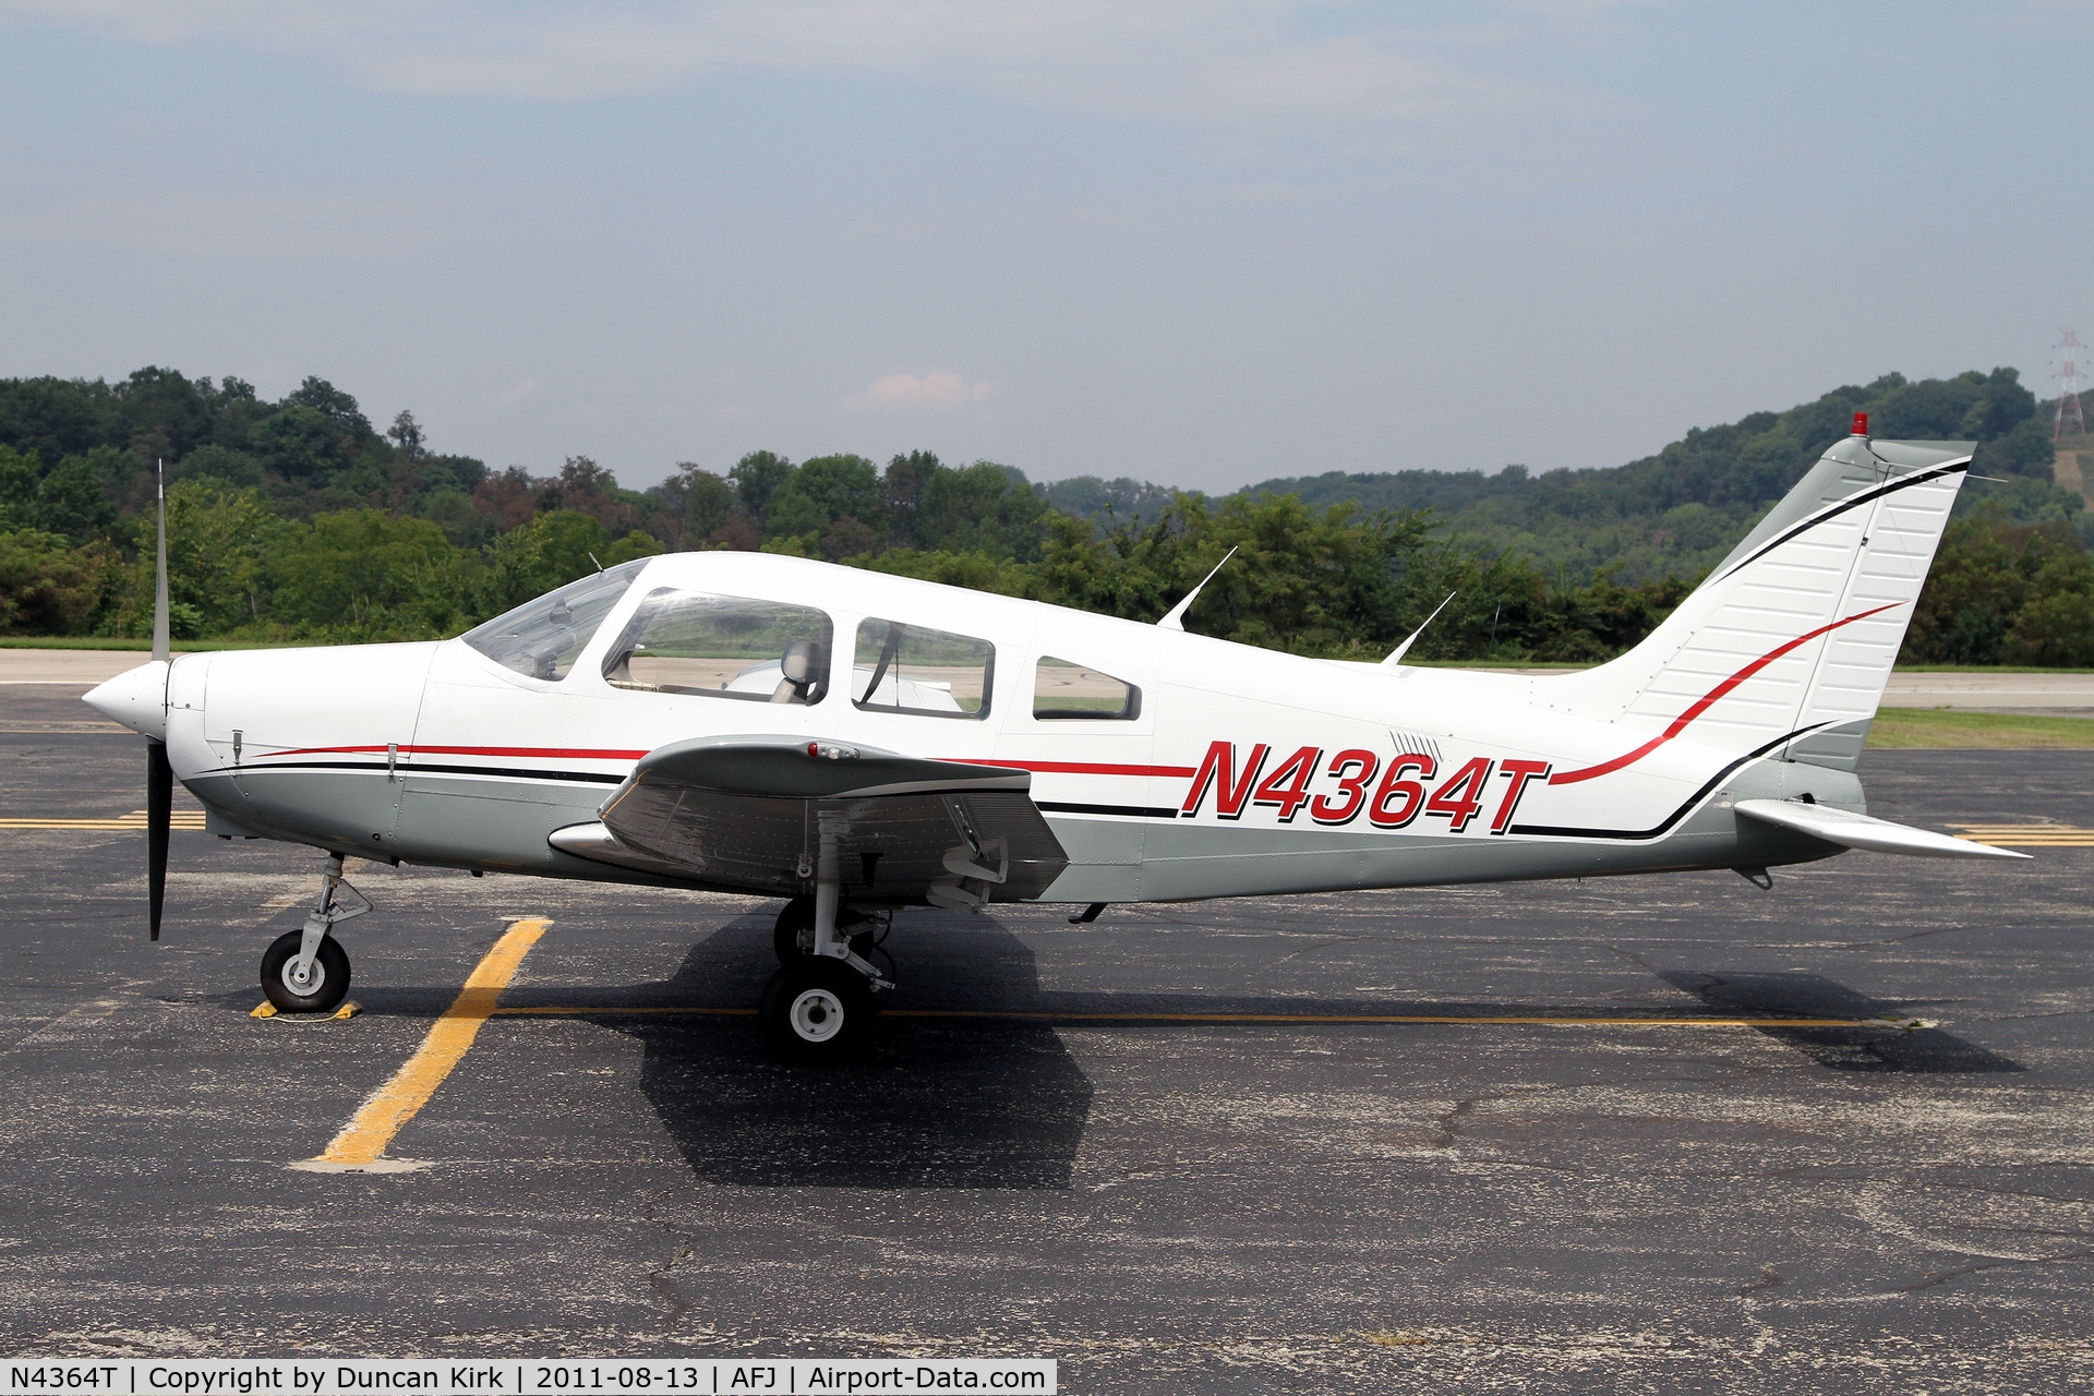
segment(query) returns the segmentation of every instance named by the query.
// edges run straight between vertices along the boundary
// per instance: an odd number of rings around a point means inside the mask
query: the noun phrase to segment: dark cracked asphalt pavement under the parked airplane
[[[19,726],[69,689],[0,691]],[[0,814],[142,806],[136,739],[0,735]],[[2086,825],[2094,751],[1870,751],[1874,812]],[[392,1153],[289,1170],[505,917],[505,1003],[756,1000],[773,904],[373,866],[360,1017],[249,1017],[318,858],[0,833],[8,1354],[1053,1356],[1068,1392],[2094,1383],[2094,848],[990,917],[894,1009],[1901,1015],[1935,1028],[494,1017]]]

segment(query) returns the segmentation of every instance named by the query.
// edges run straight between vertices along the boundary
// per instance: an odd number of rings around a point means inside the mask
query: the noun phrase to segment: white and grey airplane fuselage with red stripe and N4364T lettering
[[[794,686],[779,678],[789,653],[752,649],[704,684],[645,678],[701,668],[674,643],[632,649],[643,607],[664,596],[827,626],[808,649],[825,670]],[[693,737],[1028,770],[1068,854],[1043,894],[1055,902],[1769,866],[1836,848],[1742,820],[1734,800],[1862,808],[1847,770],[1573,712],[1550,676],[1307,659],[804,559],[651,559],[591,624],[557,674],[473,632],[184,655],[132,686],[165,684],[174,772],[222,835],[605,881],[708,885],[549,843],[593,823],[647,751]],[[915,668],[894,645],[882,653],[898,626],[944,649]],[[124,682],[105,710],[142,712]]]

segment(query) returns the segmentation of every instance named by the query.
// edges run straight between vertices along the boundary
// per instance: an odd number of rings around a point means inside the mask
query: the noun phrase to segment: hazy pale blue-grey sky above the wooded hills
[[[2094,4],[0,0],[0,375],[624,483],[1617,465],[2094,331]],[[2094,337],[2094,335],[2084,335]]]

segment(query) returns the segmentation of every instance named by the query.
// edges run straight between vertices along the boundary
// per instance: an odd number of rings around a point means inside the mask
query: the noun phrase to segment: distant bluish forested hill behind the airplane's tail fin
[[[2052,486],[2048,412],[2037,412],[2012,368],[1918,383],[1893,373],[1866,387],[1836,387],[1786,412],[1698,427],[1654,456],[1612,469],[1541,475],[1520,465],[1495,475],[1330,471],[1282,475],[1250,492],[1298,494],[1305,504],[1353,500],[1365,509],[1432,509],[1451,536],[1491,555],[1531,557],[1570,580],[1591,578],[1602,567],[1614,567],[1623,582],[1692,580],[1713,567],[1826,446],[1847,435],[1855,412],[1868,412],[1870,429],[1885,437],[1981,442],[1977,473],[2012,483],[1973,483],[1962,496],[1964,511],[1993,498],[2006,515],[2027,523],[2079,515],[2079,498]]]

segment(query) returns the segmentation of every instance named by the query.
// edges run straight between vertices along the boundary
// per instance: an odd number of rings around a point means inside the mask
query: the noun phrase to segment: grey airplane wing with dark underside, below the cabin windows
[[[1032,900],[1068,854],[1032,774],[804,737],[699,737],[641,758],[601,823],[553,848],[766,896],[815,890],[817,814],[844,814],[844,896],[978,906]]]

